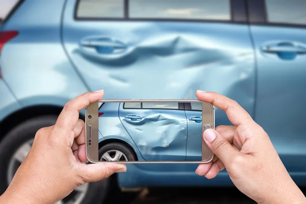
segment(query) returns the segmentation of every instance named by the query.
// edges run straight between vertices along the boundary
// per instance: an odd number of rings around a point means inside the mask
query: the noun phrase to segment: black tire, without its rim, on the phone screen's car
[[[104,146],[102,146],[99,149],[99,160],[101,161],[101,157],[106,153],[106,152],[112,152],[112,151],[121,151],[123,153],[123,157],[127,159],[127,161],[137,161],[137,156],[135,152],[133,151],[132,148],[129,146],[119,143],[119,142],[112,142],[108,143]],[[126,160],[125,159],[125,160]],[[124,161],[124,160],[121,160]]]

